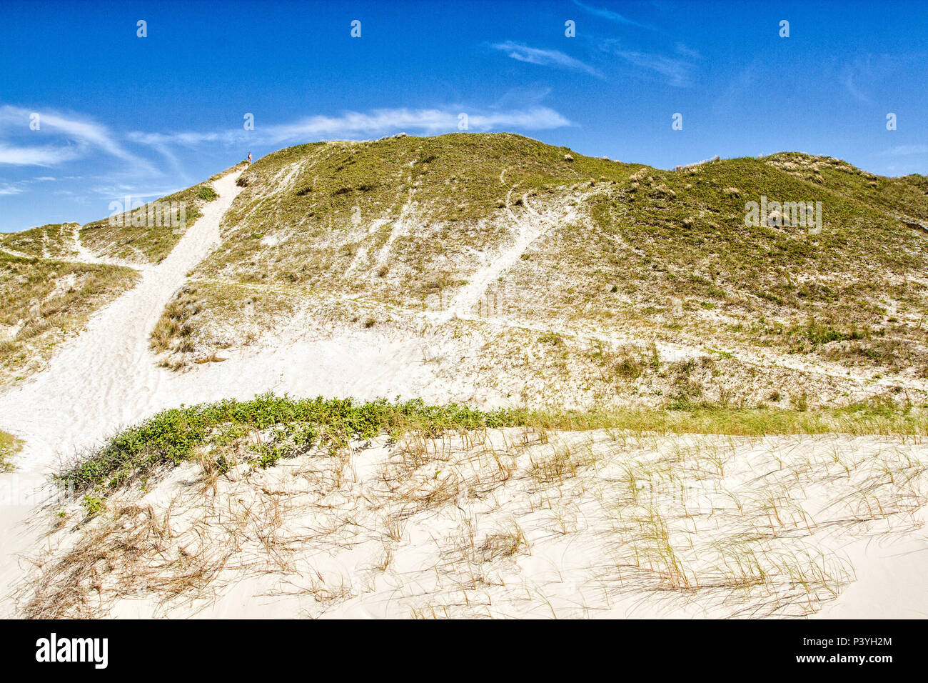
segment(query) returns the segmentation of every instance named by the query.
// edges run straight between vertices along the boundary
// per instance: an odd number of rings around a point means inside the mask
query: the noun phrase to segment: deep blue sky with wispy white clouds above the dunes
[[[249,151],[456,131],[462,112],[470,132],[664,168],[807,151],[928,173],[925,2],[4,0],[0,64],[6,231],[106,217]]]

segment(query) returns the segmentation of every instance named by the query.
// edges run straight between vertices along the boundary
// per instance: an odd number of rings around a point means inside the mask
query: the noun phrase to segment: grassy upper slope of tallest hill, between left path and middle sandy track
[[[509,239],[507,211],[527,213],[522,193],[553,199],[634,168],[580,154],[566,161],[567,152],[510,134],[277,151],[239,177],[246,190],[226,216],[233,230],[196,276],[420,305],[467,282],[474,250]]]

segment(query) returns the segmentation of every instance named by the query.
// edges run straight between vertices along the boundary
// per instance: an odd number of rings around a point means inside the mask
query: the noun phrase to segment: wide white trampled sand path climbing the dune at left
[[[152,361],[148,335],[187,272],[219,243],[220,220],[241,191],[237,177],[216,181],[219,198],[204,206],[174,251],[99,311],[45,372],[0,396],[0,424],[27,439],[24,470],[47,466],[62,446],[87,445],[79,435],[99,438],[146,412],[169,374]]]

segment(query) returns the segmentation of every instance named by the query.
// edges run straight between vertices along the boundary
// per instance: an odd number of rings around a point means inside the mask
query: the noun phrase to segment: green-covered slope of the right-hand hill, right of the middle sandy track
[[[895,199],[875,202],[880,190],[854,171],[822,173],[857,178],[867,191],[860,182],[806,180],[769,159],[678,172],[640,167],[586,201],[591,225],[550,231],[496,288],[506,292],[513,317],[531,310],[607,328],[635,322],[664,338],[682,330],[693,340],[817,352],[851,365],[923,366],[928,239],[895,214],[922,217],[928,200],[911,179],[880,178],[879,188]],[[762,195],[821,202],[821,230],[745,226],[745,202]],[[541,297],[538,281],[556,286]],[[893,309],[904,313],[893,316]]]

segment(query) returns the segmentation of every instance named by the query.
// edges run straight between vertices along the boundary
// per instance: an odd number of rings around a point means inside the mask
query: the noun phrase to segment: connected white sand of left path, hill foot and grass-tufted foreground
[[[0,395],[0,427],[25,441],[0,475],[0,614],[928,616],[928,448],[911,438],[383,438],[221,478],[180,467],[93,521],[42,505],[62,458],[180,403],[469,398],[386,334],[157,367],[148,334],[219,242],[237,177],[216,181],[170,256]]]

